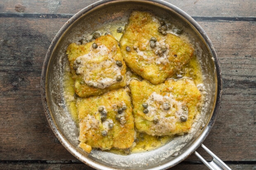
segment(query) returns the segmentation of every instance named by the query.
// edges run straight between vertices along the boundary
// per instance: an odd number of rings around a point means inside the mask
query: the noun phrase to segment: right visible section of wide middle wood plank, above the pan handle
[[[215,46],[223,78],[220,111],[204,144],[226,161],[246,154],[255,160],[256,23],[215,21],[199,24]],[[188,160],[197,158],[190,156]]]

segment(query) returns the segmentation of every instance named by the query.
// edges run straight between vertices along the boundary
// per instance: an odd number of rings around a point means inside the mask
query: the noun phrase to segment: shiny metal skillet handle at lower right
[[[220,160],[215,154],[213,154],[204,144],[201,144],[201,147],[213,157],[211,162],[206,161],[197,151],[194,151],[194,154],[210,169],[210,170],[231,170],[228,165]]]

